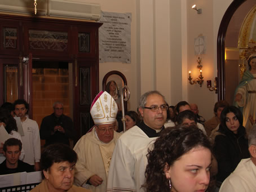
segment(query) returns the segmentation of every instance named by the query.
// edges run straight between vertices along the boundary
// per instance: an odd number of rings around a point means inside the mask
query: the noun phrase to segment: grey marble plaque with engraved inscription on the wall
[[[99,62],[131,63],[131,14],[101,12]]]

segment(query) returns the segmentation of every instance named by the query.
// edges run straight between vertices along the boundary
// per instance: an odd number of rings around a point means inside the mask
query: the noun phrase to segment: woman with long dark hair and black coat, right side
[[[242,113],[235,106],[227,106],[220,114],[220,126],[213,148],[218,162],[217,186],[235,170],[241,159],[250,157],[242,120]]]

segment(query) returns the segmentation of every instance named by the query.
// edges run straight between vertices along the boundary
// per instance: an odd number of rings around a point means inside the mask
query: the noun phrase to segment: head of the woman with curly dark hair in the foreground
[[[210,180],[211,144],[196,126],[166,128],[147,155],[147,192],[205,191]]]

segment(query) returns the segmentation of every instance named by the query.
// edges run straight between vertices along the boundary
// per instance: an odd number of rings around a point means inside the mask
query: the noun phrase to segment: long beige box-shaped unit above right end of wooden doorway
[[[10,1],[10,0],[9,0]],[[98,21],[100,19],[100,5],[65,0],[49,0],[48,15]]]

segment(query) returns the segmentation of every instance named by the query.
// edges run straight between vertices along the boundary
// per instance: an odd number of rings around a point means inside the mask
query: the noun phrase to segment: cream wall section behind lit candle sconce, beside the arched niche
[[[213,91],[209,91],[206,87],[206,81],[217,77],[217,35],[219,30],[219,24],[222,20],[224,12],[232,0],[188,0],[187,1],[187,33],[188,33],[188,70],[191,70],[192,77],[196,78],[199,75],[196,68],[197,57],[194,53],[194,39],[198,35],[202,34],[206,38],[206,53],[200,55],[202,57],[202,75],[204,76],[204,83],[202,87],[198,84],[188,83],[188,102],[196,103],[200,114],[206,119],[213,116],[213,107],[217,102],[218,97]],[[191,8],[196,4],[197,8],[202,8],[202,14],[197,14],[195,10]]]

